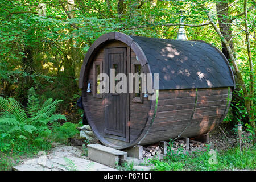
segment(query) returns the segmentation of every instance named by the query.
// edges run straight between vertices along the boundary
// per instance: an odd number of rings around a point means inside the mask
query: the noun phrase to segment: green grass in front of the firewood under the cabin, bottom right
[[[243,148],[240,155],[240,148],[234,147],[226,151],[216,152],[214,162],[214,152],[210,150],[195,152],[191,155],[175,154],[169,151],[164,160],[150,159],[148,162],[155,165],[156,171],[171,170],[196,170],[196,171],[216,171],[216,170],[255,170],[256,150],[254,147]]]

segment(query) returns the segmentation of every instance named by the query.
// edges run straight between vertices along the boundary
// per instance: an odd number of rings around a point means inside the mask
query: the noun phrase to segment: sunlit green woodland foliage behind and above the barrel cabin
[[[7,1],[0,2],[0,94],[15,94],[19,101],[24,98],[23,88],[35,88],[42,92],[41,97],[65,100],[59,111],[73,112],[74,101],[79,94],[77,78],[86,51],[94,40],[102,34],[120,31],[128,35],[150,36],[176,39],[180,10],[184,10],[186,24],[208,23],[208,17],[200,7],[199,1],[135,1],[126,0],[122,13],[118,9],[119,0],[75,1],[74,6],[59,1]],[[212,18],[218,22],[215,9],[217,0],[203,1],[211,11]],[[224,2],[224,1],[222,1]],[[243,1],[229,3],[229,15],[243,12]],[[45,16],[39,16],[39,3],[46,5]],[[254,2],[248,2],[248,8]],[[26,12],[26,13],[24,13]],[[67,14],[72,14],[72,17]],[[235,17],[231,26],[234,54],[241,70],[246,87],[250,87],[250,69],[246,50],[244,16]],[[249,32],[254,32],[254,10],[248,11]],[[221,49],[221,39],[212,26],[186,26],[189,40],[199,39]],[[251,39],[251,55],[255,57],[255,38]],[[255,59],[253,59],[255,65]],[[233,65],[232,65],[233,68]],[[255,80],[255,73],[253,73]],[[24,84],[26,83],[26,84]],[[255,82],[254,82],[255,84]],[[18,86],[17,86],[18,85]],[[253,85],[255,88],[255,85]],[[254,90],[255,92],[255,90]],[[233,92],[241,100],[232,102],[226,121],[248,123],[242,92]],[[254,93],[255,96],[255,93]],[[255,105],[255,97],[251,97]],[[24,103],[24,102],[23,102]],[[71,108],[73,110],[71,110]],[[255,107],[253,108],[255,113]],[[34,115],[35,113],[31,113]]]

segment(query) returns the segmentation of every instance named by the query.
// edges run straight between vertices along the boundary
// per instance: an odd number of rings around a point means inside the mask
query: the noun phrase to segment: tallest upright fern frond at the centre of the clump
[[[27,103],[28,117],[34,118],[36,116],[36,113],[38,113],[38,109],[39,109],[38,95],[36,94],[35,89],[31,87],[28,90],[28,103]]]

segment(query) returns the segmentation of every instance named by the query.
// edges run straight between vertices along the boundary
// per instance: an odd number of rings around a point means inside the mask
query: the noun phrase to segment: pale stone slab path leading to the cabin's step
[[[50,154],[39,152],[39,156],[24,160],[23,164],[13,167],[16,171],[117,171],[103,164],[93,162],[82,151],[73,146],[55,144]]]

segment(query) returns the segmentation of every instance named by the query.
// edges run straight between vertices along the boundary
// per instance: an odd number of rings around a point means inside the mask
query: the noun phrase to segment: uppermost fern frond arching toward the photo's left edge
[[[23,106],[14,98],[0,97],[0,109],[15,115],[19,122],[25,122],[28,119]]]

